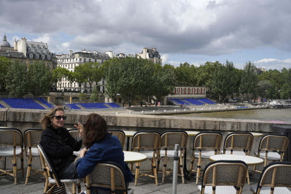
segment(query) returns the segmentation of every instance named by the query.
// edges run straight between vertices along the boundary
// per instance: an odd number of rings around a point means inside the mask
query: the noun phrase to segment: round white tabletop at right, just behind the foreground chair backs
[[[217,160],[242,160],[246,162],[248,166],[255,166],[264,163],[264,160],[254,156],[246,156],[246,155],[235,155],[235,154],[217,154],[209,157],[210,161]]]

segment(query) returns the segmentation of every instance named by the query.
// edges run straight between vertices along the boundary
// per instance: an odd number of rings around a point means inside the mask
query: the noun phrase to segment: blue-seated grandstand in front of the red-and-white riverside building
[[[174,105],[180,106],[201,106],[201,105],[217,105],[217,103],[209,98],[185,98],[185,99],[177,99],[170,98],[169,102],[172,102]]]

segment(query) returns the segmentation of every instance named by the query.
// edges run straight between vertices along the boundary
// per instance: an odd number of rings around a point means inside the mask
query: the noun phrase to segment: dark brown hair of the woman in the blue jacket
[[[92,113],[88,115],[85,124],[84,145],[91,147],[94,143],[102,141],[107,134],[107,123],[98,114]]]

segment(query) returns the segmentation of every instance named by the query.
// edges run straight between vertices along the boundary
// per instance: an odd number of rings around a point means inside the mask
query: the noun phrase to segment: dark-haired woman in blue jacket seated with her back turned
[[[132,181],[132,174],[124,162],[124,154],[119,139],[107,132],[106,121],[98,114],[88,115],[85,124],[84,145],[80,159],[75,163],[80,178],[85,178],[102,161],[116,162],[125,172],[126,182]]]

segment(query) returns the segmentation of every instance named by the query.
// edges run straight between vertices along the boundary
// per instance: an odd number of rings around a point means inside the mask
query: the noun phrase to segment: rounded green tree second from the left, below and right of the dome
[[[28,82],[27,82],[27,66],[25,63],[14,60],[8,67],[6,80],[6,91],[9,92],[9,96],[17,96],[22,98],[28,94]]]

